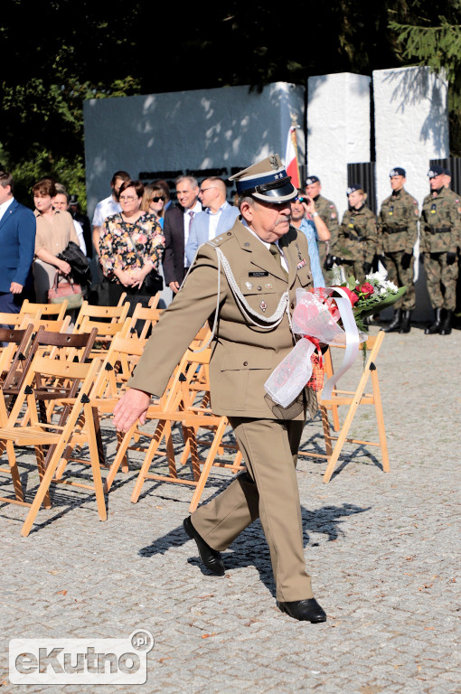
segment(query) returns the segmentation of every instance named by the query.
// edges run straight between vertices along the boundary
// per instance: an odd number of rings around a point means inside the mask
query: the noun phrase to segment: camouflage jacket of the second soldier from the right
[[[378,215],[378,249],[382,253],[413,253],[418,239],[418,201],[403,188],[381,204]]]

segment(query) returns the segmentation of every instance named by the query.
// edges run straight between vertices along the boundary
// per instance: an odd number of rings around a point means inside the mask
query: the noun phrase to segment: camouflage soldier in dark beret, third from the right
[[[330,249],[331,266],[343,266],[346,276],[352,272],[362,282],[372,271],[376,253],[376,215],[365,205],[366,193],[358,183],[350,185],[346,193],[349,209],[343,214],[337,240]]]

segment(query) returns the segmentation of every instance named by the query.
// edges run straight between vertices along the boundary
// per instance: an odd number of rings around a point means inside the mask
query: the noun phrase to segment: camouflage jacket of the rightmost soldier
[[[447,188],[441,188],[436,196],[430,192],[421,211],[421,252],[456,253],[460,245],[461,215],[456,195]]]

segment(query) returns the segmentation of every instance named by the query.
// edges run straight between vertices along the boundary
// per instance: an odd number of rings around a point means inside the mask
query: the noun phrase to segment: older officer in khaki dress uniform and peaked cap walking
[[[260,519],[268,540],[279,608],[298,620],[324,622],[306,573],[296,457],[306,419],[317,404],[305,389],[281,408],[265,393],[271,372],[291,352],[289,312],[296,288],[310,288],[306,236],[290,226],[297,191],[278,155],[230,180],[236,182],[240,218],[198,249],[183,286],[155,326],[146,351],[115,410],[126,431],[144,422],[151,395],[168,378],[197,331],[215,324],[210,382],[212,410],[229,417],[247,472],[184,520],[202,562],[225,572],[221,551]]]

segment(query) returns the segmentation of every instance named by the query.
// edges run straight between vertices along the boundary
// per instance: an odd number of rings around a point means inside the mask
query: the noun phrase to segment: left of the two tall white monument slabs
[[[307,81],[307,175],[333,200],[340,220],[347,209],[347,164],[370,161],[371,79],[349,72]]]

